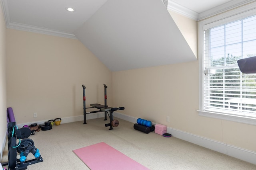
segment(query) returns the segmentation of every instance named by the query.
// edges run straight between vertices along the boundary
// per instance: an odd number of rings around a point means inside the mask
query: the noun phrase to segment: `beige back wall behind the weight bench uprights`
[[[104,104],[111,77],[76,39],[7,29],[7,105],[17,124],[83,115],[82,84],[86,104]]]

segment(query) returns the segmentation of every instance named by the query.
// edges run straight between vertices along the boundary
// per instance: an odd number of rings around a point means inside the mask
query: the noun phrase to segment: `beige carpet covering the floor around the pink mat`
[[[174,137],[142,133],[133,128],[133,123],[118,120],[119,126],[113,130],[105,127],[108,121],[99,118],[87,120],[85,125],[82,121],[54,125],[52,130],[30,136],[44,161],[28,169],[89,170],[72,150],[105,142],[151,170],[256,170],[254,164]],[[7,154],[6,147],[1,162],[8,161]],[[30,157],[34,158],[32,154]]]

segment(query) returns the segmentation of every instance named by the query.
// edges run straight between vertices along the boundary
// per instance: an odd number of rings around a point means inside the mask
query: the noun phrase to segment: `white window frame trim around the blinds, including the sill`
[[[224,119],[235,121],[239,123],[246,123],[256,125],[256,117],[248,115],[237,115],[226,112],[205,111],[204,110],[204,29],[214,26],[222,25],[232,21],[240,20],[245,17],[256,15],[256,2],[248,5],[230,10],[223,14],[210,17],[208,19],[198,22],[198,61],[199,61],[199,109],[200,116],[212,117],[217,119]]]

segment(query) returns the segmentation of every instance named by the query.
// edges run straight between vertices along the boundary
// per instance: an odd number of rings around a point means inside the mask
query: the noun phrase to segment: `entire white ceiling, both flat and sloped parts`
[[[119,71],[196,60],[166,8],[186,10],[185,16],[198,20],[230,1],[168,0],[166,6],[167,0],[1,0],[1,5],[7,28],[79,39]]]

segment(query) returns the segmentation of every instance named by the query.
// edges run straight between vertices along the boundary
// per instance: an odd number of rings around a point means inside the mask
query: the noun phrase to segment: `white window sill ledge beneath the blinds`
[[[246,123],[249,125],[256,125],[256,117],[249,117],[243,115],[232,115],[214,111],[197,110],[200,116],[211,117],[216,119],[223,119],[228,121],[235,121],[238,123]]]

